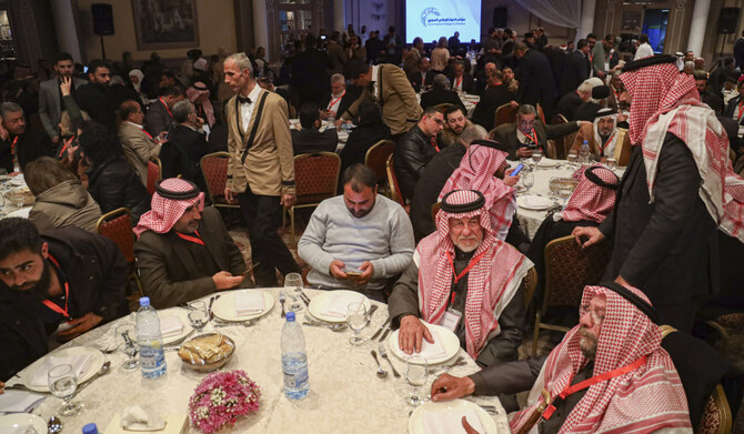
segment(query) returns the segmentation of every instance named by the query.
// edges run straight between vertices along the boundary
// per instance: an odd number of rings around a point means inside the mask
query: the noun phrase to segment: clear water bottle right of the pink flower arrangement
[[[282,327],[282,372],[284,395],[290,400],[302,400],[310,392],[308,354],[302,327],[294,321],[294,312],[286,312]]]

